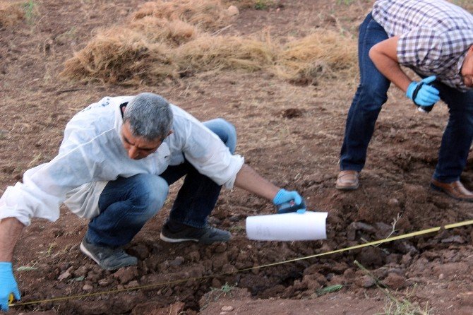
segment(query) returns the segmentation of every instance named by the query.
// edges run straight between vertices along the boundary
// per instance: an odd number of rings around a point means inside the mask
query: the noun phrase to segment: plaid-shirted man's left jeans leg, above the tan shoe
[[[358,61],[360,83],[348,111],[345,137],[340,152],[340,169],[361,171],[366,162],[366,150],[373,136],[374,125],[381,107],[388,100],[390,81],[376,69],[369,58],[369,49],[388,35],[371,13],[359,28]]]

